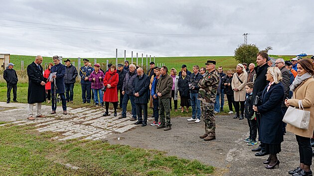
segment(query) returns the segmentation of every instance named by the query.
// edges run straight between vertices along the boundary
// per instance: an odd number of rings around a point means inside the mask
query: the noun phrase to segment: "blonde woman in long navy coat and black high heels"
[[[283,112],[281,103],[284,98],[284,87],[280,83],[282,75],[277,67],[269,67],[266,74],[269,81],[262,94],[262,105],[253,106],[254,111],[261,113],[259,141],[265,146],[266,153],[269,153],[266,169],[279,167],[277,154],[281,152],[281,143],[284,141],[282,120]]]

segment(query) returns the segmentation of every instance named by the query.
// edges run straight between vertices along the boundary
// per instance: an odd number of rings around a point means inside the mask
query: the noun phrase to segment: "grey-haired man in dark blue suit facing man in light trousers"
[[[54,66],[51,67],[51,73],[56,73],[55,76],[50,80],[51,82],[51,102],[52,102],[52,111],[51,114],[56,113],[57,109],[57,93],[59,93],[62,101],[63,114],[68,114],[66,112],[66,98],[64,95],[64,75],[65,75],[65,66],[60,63],[60,58],[58,56],[53,56]]]

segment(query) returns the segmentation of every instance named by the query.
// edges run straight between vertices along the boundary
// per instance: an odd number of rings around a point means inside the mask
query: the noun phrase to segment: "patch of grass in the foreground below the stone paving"
[[[0,175],[182,176],[214,171],[198,161],[165,156],[156,150],[106,141],[59,142],[52,139],[55,136],[53,132],[38,133],[33,126],[0,127]]]

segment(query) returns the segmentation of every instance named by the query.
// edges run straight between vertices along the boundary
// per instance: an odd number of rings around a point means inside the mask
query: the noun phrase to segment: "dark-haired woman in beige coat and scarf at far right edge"
[[[311,112],[309,129],[303,130],[287,124],[287,131],[296,135],[299,145],[300,166],[295,170],[289,171],[294,176],[312,176],[312,148],[311,138],[314,130],[314,66],[310,60],[303,59],[298,61],[298,75],[290,86],[293,91],[293,98],[286,99],[286,106],[299,107],[299,100],[302,100],[304,110]],[[297,117],[296,117],[297,118]]]

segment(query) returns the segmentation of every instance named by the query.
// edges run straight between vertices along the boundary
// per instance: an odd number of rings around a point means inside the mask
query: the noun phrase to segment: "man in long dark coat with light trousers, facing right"
[[[27,66],[28,76],[28,92],[27,92],[27,119],[35,120],[33,117],[33,107],[36,103],[36,117],[45,117],[41,115],[41,103],[45,101],[45,82],[46,79],[43,77],[43,69],[41,67],[42,57],[36,56],[34,62]]]

